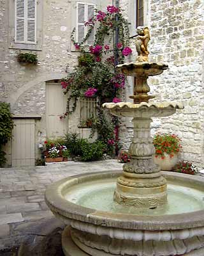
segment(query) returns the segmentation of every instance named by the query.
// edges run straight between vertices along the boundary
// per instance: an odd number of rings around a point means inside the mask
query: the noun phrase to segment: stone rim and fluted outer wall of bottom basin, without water
[[[66,256],[203,256],[204,210],[161,216],[98,211],[66,200],[69,191],[87,182],[117,179],[119,171],[76,175],[47,188],[45,200],[68,227],[62,235]],[[163,172],[168,182],[204,190],[204,178]],[[73,192],[74,193],[74,192]],[[204,192],[203,192],[204,195]],[[73,195],[75,197],[75,195]],[[100,204],[100,202],[98,202]]]

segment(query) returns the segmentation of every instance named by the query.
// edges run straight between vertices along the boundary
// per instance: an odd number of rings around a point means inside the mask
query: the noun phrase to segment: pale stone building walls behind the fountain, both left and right
[[[47,87],[54,86],[77,64],[71,44],[71,31],[76,26],[77,0],[38,0],[37,44],[15,44],[14,0],[0,0],[0,100],[11,103],[17,118],[34,118],[35,156],[39,143],[47,137]],[[80,1],[96,4],[99,9],[112,4],[110,0]],[[115,1],[113,1],[115,3]],[[149,79],[150,93],[157,101],[178,100],[185,109],[177,114],[154,119],[153,131],[173,132],[182,139],[181,158],[204,166],[204,93],[203,43],[204,4],[201,0],[120,0],[119,4],[131,22],[130,33],[135,35],[137,3],[143,4],[143,24],[149,26],[150,61],[169,65],[163,75]],[[133,40],[131,48],[135,49]],[[38,65],[24,66],[17,62],[18,52],[37,52]],[[135,60],[136,51],[126,61]],[[130,100],[133,81],[128,79],[124,100]],[[51,88],[51,87],[50,87]],[[52,103],[52,102],[51,102]],[[55,106],[57,102],[53,102]],[[51,104],[52,105],[52,104]],[[51,113],[52,114],[52,113]],[[77,129],[79,113],[68,122]],[[77,120],[77,122],[76,122]],[[131,120],[123,119],[120,127],[122,143],[131,141]],[[78,131],[78,130],[77,130]],[[7,146],[11,164],[12,149]]]

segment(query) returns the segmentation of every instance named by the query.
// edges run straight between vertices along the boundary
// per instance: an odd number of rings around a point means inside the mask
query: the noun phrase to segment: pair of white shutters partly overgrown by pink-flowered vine
[[[77,3],[77,42],[82,43],[85,36],[89,32],[90,27],[85,26],[85,22],[94,17],[94,4],[89,3]],[[87,39],[87,45],[94,44],[94,30],[91,31],[91,35]]]

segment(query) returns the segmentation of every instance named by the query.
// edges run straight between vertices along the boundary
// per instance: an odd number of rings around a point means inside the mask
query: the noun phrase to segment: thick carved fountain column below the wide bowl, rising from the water
[[[124,164],[117,179],[114,200],[119,204],[156,208],[166,204],[166,179],[154,164],[154,145],[150,137],[150,118],[133,118],[134,136],[129,147],[131,161]]]

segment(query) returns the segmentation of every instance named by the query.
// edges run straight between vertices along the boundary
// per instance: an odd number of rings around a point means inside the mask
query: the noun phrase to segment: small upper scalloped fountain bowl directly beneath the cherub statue
[[[168,65],[149,62],[130,62],[117,65],[117,69],[126,76],[149,77],[162,74],[163,70],[168,69]]]

